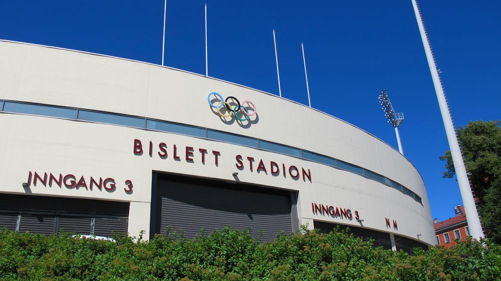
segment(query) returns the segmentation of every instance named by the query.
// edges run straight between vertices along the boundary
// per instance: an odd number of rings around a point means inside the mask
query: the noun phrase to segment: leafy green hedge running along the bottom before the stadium
[[[501,246],[488,240],[415,249],[373,247],[345,231],[256,241],[223,228],[195,239],[115,242],[0,229],[0,280],[499,280]]]

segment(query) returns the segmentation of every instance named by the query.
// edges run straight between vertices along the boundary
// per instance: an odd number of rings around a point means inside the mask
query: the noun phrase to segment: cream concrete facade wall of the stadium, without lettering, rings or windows
[[[0,193],[71,196],[130,202],[129,228],[137,236],[149,235],[152,173],[178,173],[237,181],[299,192],[299,220],[313,226],[322,220],[368,227],[435,243],[431,213],[423,180],[416,168],[397,150],[375,136],[333,116],[276,95],[159,65],[79,51],[0,41],[0,100],[43,103],[129,114],[194,125],[255,137],[302,148],[340,159],[384,175],[422,198],[422,204],[386,184],[349,171],[298,157],[205,138],[144,128],[45,117],[0,113]],[[207,103],[216,91],[251,100],[258,116],[252,124],[234,118],[224,120]],[[139,139],[143,153],[134,153]],[[152,142],[152,156],[149,155]],[[158,155],[159,143],[168,156]],[[177,155],[173,158],[173,145]],[[193,147],[193,161],[185,159]],[[199,148],[207,150],[201,162]],[[218,165],[212,150],[220,152]],[[243,158],[238,169],[236,156]],[[247,156],[255,158],[250,171]],[[263,159],[268,171],[256,168]],[[311,182],[272,175],[270,161],[287,168],[295,165],[311,171]],[[94,188],[43,186],[27,182],[29,172],[112,177],[112,192]],[[237,178],[232,175],[238,172]],[[126,180],[133,191],[125,192]],[[312,203],[350,208],[359,220],[315,214]],[[386,224],[395,220],[398,228]]]

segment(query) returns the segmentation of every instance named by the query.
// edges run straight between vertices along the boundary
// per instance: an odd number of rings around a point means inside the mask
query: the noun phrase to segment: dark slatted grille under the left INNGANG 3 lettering
[[[0,194],[0,227],[21,232],[110,236],[127,232],[128,214],[127,202]]]

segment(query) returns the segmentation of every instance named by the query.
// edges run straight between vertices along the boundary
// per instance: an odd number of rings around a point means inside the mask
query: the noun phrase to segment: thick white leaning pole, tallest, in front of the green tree
[[[468,222],[469,231],[473,238],[479,239],[481,237],[484,237],[484,234],[482,226],[480,224],[480,218],[478,216],[478,212],[475,206],[475,200],[473,199],[471,186],[469,184],[468,176],[466,174],[466,168],[464,167],[464,161],[461,155],[461,150],[459,149],[459,144],[457,142],[454,125],[452,124],[452,118],[450,116],[449,107],[447,105],[447,101],[445,100],[445,94],[443,92],[442,82],[440,80],[440,76],[438,75],[437,67],[435,64],[435,58],[433,57],[433,52],[431,51],[430,43],[428,41],[428,35],[426,34],[426,30],[424,28],[423,20],[421,17],[421,12],[419,10],[416,0],[412,0],[412,6],[414,7],[417,24],[419,26],[419,32],[421,33],[421,39],[423,40],[424,51],[426,52],[426,58],[428,59],[428,65],[430,67],[431,78],[433,79],[433,85],[435,86],[438,105],[440,106],[440,112],[442,113],[443,125],[445,127],[445,133],[447,135],[447,140],[449,142],[450,153],[452,155],[452,162],[454,163],[457,183],[459,184],[459,191],[461,192],[461,197],[463,199],[464,211],[466,213],[466,220]]]

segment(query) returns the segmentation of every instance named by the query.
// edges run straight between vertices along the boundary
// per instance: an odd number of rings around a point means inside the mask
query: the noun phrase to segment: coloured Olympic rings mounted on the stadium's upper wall
[[[218,98],[218,100],[216,102],[212,102],[212,100],[210,99],[211,95],[215,95]],[[233,101],[233,103],[236,103],[236,105],[231,105],[230,104],[231,101]],[[207,102],[210,104],[212,108],[216,109],[217,113],[219,113],[221,117],[224,118],[231,117],[231,115],[233,115],[237,120],[245,121],[249,119],[249,116],[254,116],[257,113],[256,105],[252,101],[244,100],[242,103],[240,103],[240,101],[234,96],[228,96],[226,97],[226,99],[223,99],[222,95],[215,91],[207,95]],[[244,104],[252,106],[243,106]],[[221,109],[225,110],[226,113],[223,113]],[[249,112],[249,110],[251,110],[251,112]],[[241,111],[240,115],[242,117],[239,117],[237,115],[237,112],[239,111]]]

